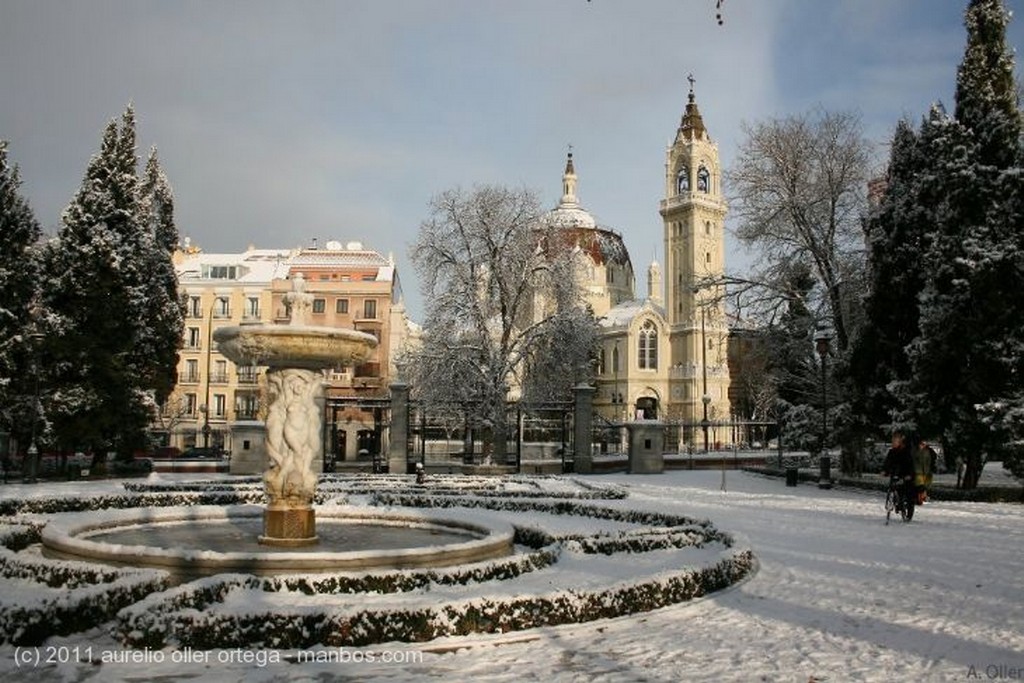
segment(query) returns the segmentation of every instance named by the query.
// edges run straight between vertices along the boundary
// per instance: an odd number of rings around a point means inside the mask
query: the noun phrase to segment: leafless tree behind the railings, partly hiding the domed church
[[[421,400],[472,416],[502,462],[506,399],[522,388],[530,354],[579,357],[577,347],[593,343],[571,332],[593,325],[579,315],[575,255],[557,228],[538,223],[540,202],[526,189],[452,189],[430,208],[413,246],[427,302],[422,345],[403,365]]]

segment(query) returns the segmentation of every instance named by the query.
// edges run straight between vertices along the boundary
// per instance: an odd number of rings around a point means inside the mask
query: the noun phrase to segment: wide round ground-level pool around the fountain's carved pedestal
[[[424,514],[339,506],[317,510],[315,549],[258,545],[261,506],[112,510],[55,516],[42,531],[48,557],[162,568],[184,579],[432,567],[503,557],[513,529]],[[347,547],[346,547],[347,546]]]

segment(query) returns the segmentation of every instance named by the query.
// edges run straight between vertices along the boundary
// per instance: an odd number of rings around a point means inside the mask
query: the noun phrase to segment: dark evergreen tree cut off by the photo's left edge
[[[0,429],[28,444],[30,425],[38,419],[32,306],[40,228],[20,184],[7,141],[0,140]]]

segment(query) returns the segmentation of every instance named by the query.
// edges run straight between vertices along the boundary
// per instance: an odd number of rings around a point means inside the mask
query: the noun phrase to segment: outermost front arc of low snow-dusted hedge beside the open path
[[[151,648],[167,645],[196,649],[307,648],[316,644],[334,647],[422,642],[443,636],[505,633],[649,611],[725,588],[746,575],[753,565],[754,556],[744,549],[725,554],[711,566],[683,568],[602,590],[473,598],[409,609],[326,607],[289,611],[279,606],[250,613],[211,613],[202,610],[254,580],[205,581],[198,590],[191,587],[184,589],[187,593],[179,593],[172,600],[177,607],[173,611],[153,610],[158,606],[154,603],[159,596],[126,609],[120,615],[118,635],[127,646]]]

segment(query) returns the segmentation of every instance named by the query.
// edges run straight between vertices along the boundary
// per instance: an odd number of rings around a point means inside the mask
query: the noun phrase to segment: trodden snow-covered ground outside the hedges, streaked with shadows
[[[886,526],[880,494],[785,487],[734,471],[724,477],[725,490],[720,471],[585,479],[626,486],[628,507],[710,518],[753,547],[757,572],[698,601],[504,636],[321,651],[329,663],[289,653],[267,664],[271,653],[221,650],[37,667],[18,666],[15,654],[26,652],[3,646],[0,681],[1024,679],[1024,507],[937,502],[910,524]],[[25,490],[69,488],[8,485],[0,497]],[[47,645],[124,654],[98,632]]]

